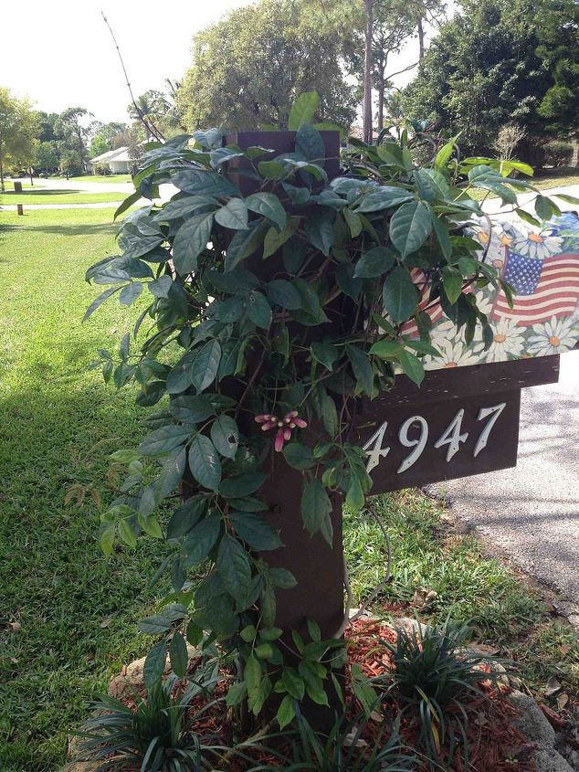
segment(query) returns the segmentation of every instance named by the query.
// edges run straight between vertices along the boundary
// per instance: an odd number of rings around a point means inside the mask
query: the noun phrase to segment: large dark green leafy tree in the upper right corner
[[[462,132],[461,144],[474,153],[487,152],[505,123],[527,132],[528,148],[536,145],[549,131],[545,112],[559,116],[559,131],[571,131],[575,94],[560,92],[557,104],[550,99],[557,95],[552,90],[557,67],[561,80],[569,73],[559,62],[574,56],[563,56],[577,34],[574,0],[465,0],[462,5],[463,13],[441,27],[405,89],[408,117],[433,119],[448,132]]]

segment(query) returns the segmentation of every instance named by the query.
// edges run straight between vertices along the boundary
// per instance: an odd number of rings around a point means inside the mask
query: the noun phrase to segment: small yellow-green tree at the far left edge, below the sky
[[[38,113],[32,110],[30,102],[0,88],[0,190],[5,189],[7,164],[28,167],[32,163],[38,129]]]

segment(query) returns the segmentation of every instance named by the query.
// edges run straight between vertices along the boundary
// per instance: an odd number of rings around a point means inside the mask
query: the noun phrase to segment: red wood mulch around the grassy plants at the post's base
[[[380,640],[389,640],[395,642],[395,630],[384,622],[360,619],[353,622],[346,629],[346,638],[348,639],[349,662],[346,666],[346,675],[350,672],[350,667],[354,662],[361,665],[365,675],[375,677],[383,675],[389,670],[390,658],[388,651]],[[195,670],[198,661],[192,661],[190,672]],[[483,672],[490,672],[485,666],[481,668]],[[224,697],[227,691],[227,682],[220,682],[216,687],[216,692],[211,700]],[[491,684],[489,680],[480,682],[480,689],[485,693],[484,696],[473,698],[466,711],[468,714],[468,741],[469,741],[469,762],[465,767],[461,749],[454,754],[454,758],[447,758],[447,749],[443,746],[440,753],[440,764],[448,772],[512,772],[516,767],[518,772],[532,772],[535,769],[532,761],[532,745],[527,742],[524,735],[521,735],[518,729],[511,724],[512,718],[517,715],[516,708],[508,702],[505,697],[511,691],[509,687],[500,684],[498,687]],[[348,705],[348,715],[354,717],[362,713],[362,705],[357,703],[352,690],[347,687],[346,700]],[[130,704],[129,699],[123,698],[123,702]],[[192,709],[198,710],[203,707],[203,699],[196,697],[192,703]],[[369,746],[374,746],[377,738],[384,735],[384,742],[388,739],[388,733],[384,732],[384,721],[386,726],[394,724],[396,715],[400,712],[400,705],[395,701],[395,696],[390,694],[388,699],[382,705],[382,715],[375,714],[366,724],[363,731],[363,739]],[[225,701],[216,703],[208,708],[202,718],[195,721],[195,713],[192,710],[186,724],[186,730],[203,737],[208,745],[218,745],[231,747],[237,735],[233,726],[233,711],[226,708]],[[275,734],[277,731],[275,723],[270,732]],[[416,746],[418,738],[418,727],[416,720],[408,716],[400,727],[400,734],[403,742],[407,746]],[[237,736],[237,741],[239,737]],[[521,749],[519,756],[513,758],[512,749]],[[283,748],[279,748],[283,751]],[[363,753],[363,748],[360,748]],[[250,755],[254,759],[254,764],[276,765],[275,756],[269,756],[265,751],[253,751]],[[227,759],[226,766],[222,767],[228,772],[243,772],[247,766],[240,762],[236,756]],[[428,767],[416,767],[416,772]]]

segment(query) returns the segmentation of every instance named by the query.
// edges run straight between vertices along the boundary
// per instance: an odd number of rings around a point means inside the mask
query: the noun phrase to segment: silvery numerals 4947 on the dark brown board
[[[496,424],[500,414],[506,407],[506,404],[506,402],[501,402],[500,405],[495,405],[493,407],[481,407],[479,409],[477,420],[488,420],[482,428],[479,439],[477,440],[477,444],[473,452],[473,456],[475,458],[479,455],[481,450],[487,447],[490,432]],[[458,410],[457,415],[450,421],[447,428],[434,443],[435,448],[444,448],[447,446],[447,463],[452,460],[456,453],[458,453],[458,450],[460,449],[460,443],[466,442],[468,439],[468,431],[461,432],[462,419],[464,418],[464,414],[464,407],[461,407]],[[410,439],[408,437],[408,432],[411,428],[416,426],[419,428],[419,435],[416,439]],[[389,446],[386,448],[382,447],[386,428],[388,428],[388,421],[384,421],[382,426],[378,428],[372,437],[363,445],[363,449],[368,454],[366,470],[369,472],[372,471],[374,467],[378,466],[380,460],[385,459],[385,457],[390,452]],[[405,448],[412,448],[412,451],[406,456],[405,460],[402,461],[396,470],[397,474],[402,474],[406,470],[410,469],[411,466],[416,464],[416,461],[420,458],[424,452],[424,449],[426,448],[426,443],[428,441],[428,423],[426,418],[423,418],[422,416],[411,416],[410,418],[406,418],[405,422],[402,424],[400,430],[398,431],[398,441]]]

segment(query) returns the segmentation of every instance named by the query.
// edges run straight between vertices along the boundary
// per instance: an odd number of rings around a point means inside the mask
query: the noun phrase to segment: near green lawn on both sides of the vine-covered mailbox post
[[[56,772],[83,702],[151,640],[134,623],[154,602],[147,581],[163,546],[142,541],[106,561],[95,538],[95,500],[111,498],[107,454],[139,439],[147,412],[87,370],[136,316],[113,301],[80,323],[96,294],[84,270],[114,249],[111,217],[111,209],[0,213],[3,772]],[[374,608],[400,600],[412,613],[416,588],[434,589],[429,615],[472,619],[479,640],[499,640],[531,684],[554,674],[576,688],[569,631],[476,541],[454,534],[437,502],[404,492],[377,504],[394,576]],[[344,542],[359,600],[384,576],[383,537],[367,516],[346,513]]]

